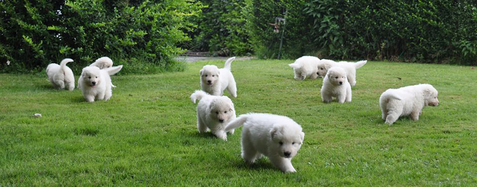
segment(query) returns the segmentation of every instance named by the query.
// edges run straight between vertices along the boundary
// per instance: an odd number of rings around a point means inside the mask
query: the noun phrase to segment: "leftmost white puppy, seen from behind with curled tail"
[[[68,90],[75,88],[75,75],[73,71],[66,66],[66,63],[73,62],[72,59],[63,59],[60,65],[51,63],[46,67],[46,74],[51,84],[57,89],[64,89],[65,86]]]

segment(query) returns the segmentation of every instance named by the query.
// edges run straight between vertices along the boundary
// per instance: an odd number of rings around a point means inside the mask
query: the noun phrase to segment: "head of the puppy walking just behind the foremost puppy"
[[[209,115],[219,123],[227,124],[234,116],[232,100],[226,96],[217,97],[210,105]]]

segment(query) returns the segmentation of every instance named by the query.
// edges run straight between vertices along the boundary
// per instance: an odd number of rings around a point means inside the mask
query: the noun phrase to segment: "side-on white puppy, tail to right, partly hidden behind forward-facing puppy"
[[[366,60],[359,61],[356,63],[353,62],[334,62],[332,60],[327,60],[327,59],[322,59],[320,62],[318,62],[318,75],[319,76],[325,76],[326,72],[335,66],[342,67],[345,69],[348,81],[350,82],[351,86],[356,85],[356,70],[366,64]]]

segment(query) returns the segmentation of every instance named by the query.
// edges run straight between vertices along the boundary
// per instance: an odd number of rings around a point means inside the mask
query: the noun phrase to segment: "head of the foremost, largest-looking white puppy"
[[[274,124],[270,130],[272,150],[276,151],[280,157],[292,158],[296,155],[303,144],[305,133],[301,131],[299,125],[294,124]]]

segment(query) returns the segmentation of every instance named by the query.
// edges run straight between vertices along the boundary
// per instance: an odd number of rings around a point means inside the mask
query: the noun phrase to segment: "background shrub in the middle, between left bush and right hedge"
[[[192,20],[197,29],[190,32],[189,50],[212,55],[247,55],[252,52],[245,28],[244,0],[203,0],[206,6]]]

